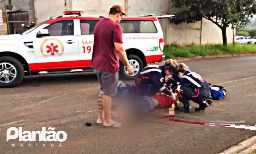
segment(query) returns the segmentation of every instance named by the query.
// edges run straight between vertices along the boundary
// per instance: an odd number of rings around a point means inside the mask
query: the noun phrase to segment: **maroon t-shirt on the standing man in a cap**
[[[119,57],[114,42],[123,43],[122,28],[113,20],[104,18],[94,28],[92,68],[108,72],[119,70]]]

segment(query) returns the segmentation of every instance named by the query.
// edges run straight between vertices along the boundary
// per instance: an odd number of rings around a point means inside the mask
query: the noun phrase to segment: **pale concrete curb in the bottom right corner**
[[[256,136],[253,136],[249,139],[246,139],[239,144],[233,145],[230,148],[224,150],[223,152],[219,154],[229,154],[229,153],[239,153],[242,152],[250,147],[254,147],[256,144]],[[247,151],[247,150],[246,150]]]

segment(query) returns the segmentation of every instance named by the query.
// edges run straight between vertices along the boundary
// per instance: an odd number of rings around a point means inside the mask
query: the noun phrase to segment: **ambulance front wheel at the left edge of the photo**
[[[3,68],[3,66],[6,66],[8,69],[6,67]],[[3,77],[5,74],[8,79]],[[0,88],[16,87],[21,83],[23,78],[24,67],[19,60],[11,56],[0,57]]]

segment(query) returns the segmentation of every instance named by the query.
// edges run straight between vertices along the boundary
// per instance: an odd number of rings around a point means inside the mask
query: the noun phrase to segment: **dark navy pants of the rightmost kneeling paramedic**
[[[180,89],[176,90],[180,101],[183,103],[185,108],[190,107],[189,100],[196,102],[199,106],[203,105],[203,101],[209,97],[209,88],[190,88],[181,86]]]

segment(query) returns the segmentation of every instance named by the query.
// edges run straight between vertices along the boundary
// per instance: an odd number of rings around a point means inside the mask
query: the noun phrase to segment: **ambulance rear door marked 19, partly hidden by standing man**
[[[78,36],[80,67],[91,67],[94,44],[94,27],[97,22],[99,22],[99,20],[80,20],[81,35]]]

